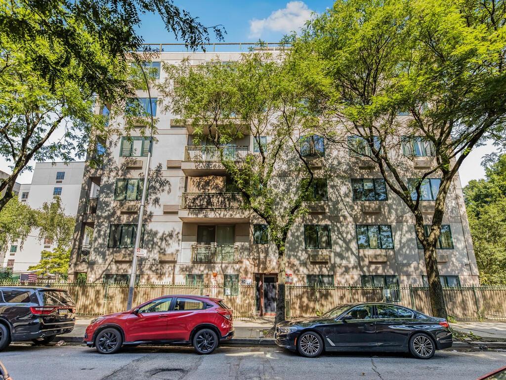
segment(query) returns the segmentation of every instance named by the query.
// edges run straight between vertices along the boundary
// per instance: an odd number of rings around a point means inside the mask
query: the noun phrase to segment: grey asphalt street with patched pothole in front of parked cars
[[[85,346],[11,345],[0,353],[14,380],[130,379],[475,379],[506,365],[506,352],[437,352],[430,360],[400,354],[328,354],[302,358],[275,347],[136,347],[100,355]]]

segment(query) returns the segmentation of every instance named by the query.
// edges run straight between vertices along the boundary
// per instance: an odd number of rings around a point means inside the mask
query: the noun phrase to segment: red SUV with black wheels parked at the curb
[[[148,344],[193,345],[199,354],[210,354],[233,335],[232,310],[223,300],[165,295],[95,318],[86,328],[85,342],[101,354],[114,354],[123,345]]]

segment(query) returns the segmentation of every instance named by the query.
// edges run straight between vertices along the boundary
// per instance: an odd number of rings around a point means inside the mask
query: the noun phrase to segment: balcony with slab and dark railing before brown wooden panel
[[[240,193],[183,193],[178,215],[187,222],[249,222]]]

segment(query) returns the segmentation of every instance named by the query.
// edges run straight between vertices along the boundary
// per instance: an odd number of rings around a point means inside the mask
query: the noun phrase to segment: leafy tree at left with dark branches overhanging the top
[[[0,1],[0,155],[13,168],[0,182],[0,210],[30,160],[71,161],[104,138],[95,102],[110,109],[135,97],[131,52],[143,49],[145,13],[158,14],[191,48],[210,31],[223,36],[172,0]]]

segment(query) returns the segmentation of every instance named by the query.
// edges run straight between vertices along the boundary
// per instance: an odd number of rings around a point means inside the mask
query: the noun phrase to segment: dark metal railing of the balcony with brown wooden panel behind
[[[183,210],[239,210],[244,202],[240,193],[183,193]]]

